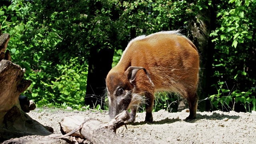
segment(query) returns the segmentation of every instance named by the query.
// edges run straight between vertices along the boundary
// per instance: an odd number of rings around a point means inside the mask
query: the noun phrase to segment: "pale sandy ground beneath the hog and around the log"
[[[54,128],[60,134],[58,122],[64,116],[83,115],[107,123],[107,112],[40,110],[28,113],[44,126]],[[169,113],[160,110],[153,113],[154,123],[144,122],[145,113],[137,113],[136,122],[123,126],[116,132],[118,136],[137,144],[256,144],[256,112],[198,112],[197,119],[183,120],[189,115],[186,110]]]

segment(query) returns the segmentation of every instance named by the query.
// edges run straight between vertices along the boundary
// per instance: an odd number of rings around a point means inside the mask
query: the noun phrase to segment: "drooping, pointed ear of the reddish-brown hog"
[[[148,75],[148,72],[145,68],[142,68],[142,67],[136,67],[136,66],[130,66],[129,68],[127,68],[127,70],[125,71],[125,74],[127,75],[128,77],[128,80],[130,81],[130,83],[133,83],[135,78],[136,78],[136,74],[138,72],[138,70],[144,70],[144,72],[146,73],[146,75],[148,76],[148,79],[150,80],[150,83],[153,84],[150,76]]]

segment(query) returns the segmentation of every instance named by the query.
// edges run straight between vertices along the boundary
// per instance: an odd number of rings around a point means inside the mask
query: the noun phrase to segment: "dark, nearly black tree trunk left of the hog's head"
[[[88,77],[86,86],[86,96],[84,104],[90,105],[90,108],[101,105],[104,109],[104,96],[106,82],[105,78],[112,68],[114,50],[103,48],[97,51],[97,48],[91,48],[88,58]]]

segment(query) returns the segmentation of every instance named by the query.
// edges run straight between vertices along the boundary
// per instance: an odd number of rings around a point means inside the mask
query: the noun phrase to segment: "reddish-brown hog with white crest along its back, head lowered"
[[[146,121],[152,122],[154,92],[168,91],[178,93],[188,100],[190,115],[186,120],[196,118],[199,56],[194,44],[178,32],[140,36],[128,44],[120,62],[110,70],[106,78],[110,107],[117,108],[116,114],[118,110],[131,108],[134,118],[130,121],[135,121],[138,102],[133,104],[130,97],[136,94],[145,96]],[[136,77],[131,82],[127,72],[130,66],[145,68],[149,76],[143,70],[136,70]],[[121,95],[115,93],[118,86],[126,90],[126,95],[125,92]],[[128,106],[123,104],[125,100],[129,102]]]

